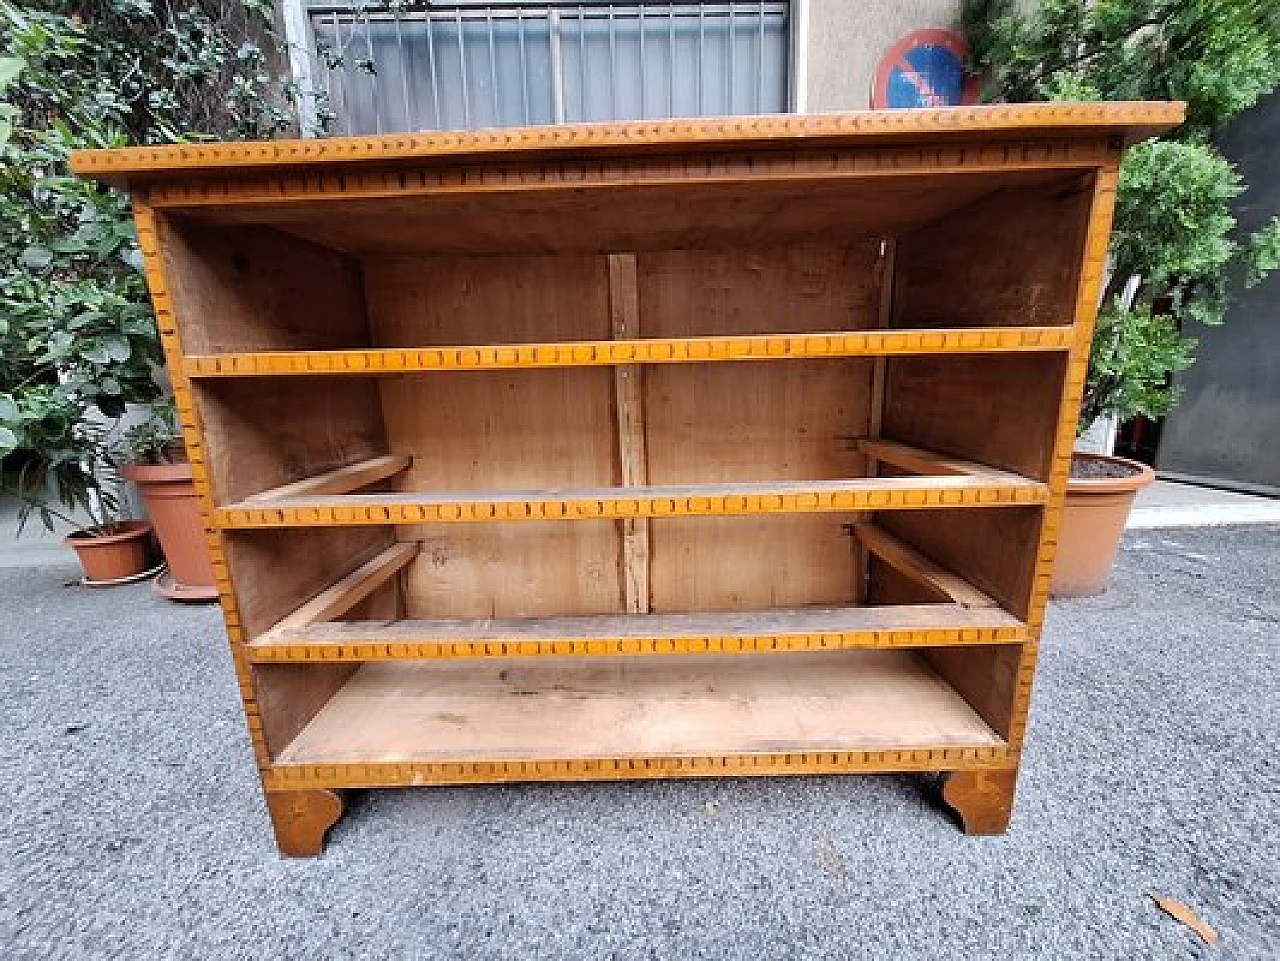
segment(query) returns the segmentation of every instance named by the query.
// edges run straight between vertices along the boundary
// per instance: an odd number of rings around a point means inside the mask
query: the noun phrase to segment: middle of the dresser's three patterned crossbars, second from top
[[[579,490],[256,496],[214,512],[224,530],[335,527],[627,517],[906,511],[1043,504],[1048,488],[1018,475],[1001,479],[858,477]]]

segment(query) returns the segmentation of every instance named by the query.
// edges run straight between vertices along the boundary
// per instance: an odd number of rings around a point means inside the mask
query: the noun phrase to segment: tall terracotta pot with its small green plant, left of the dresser
[[[152,589],[170,600],[216,600],[200,498],[172,402],[156,404],[125,435],[125,450],[120,473],[138,486],[169,564]]]

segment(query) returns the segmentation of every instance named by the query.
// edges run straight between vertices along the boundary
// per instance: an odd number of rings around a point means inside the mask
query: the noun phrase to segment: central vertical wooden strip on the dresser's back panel
[[[640,290],[634,253],[609,255],[609,316],[614,340],[634,340],[640,335]],[[649,476],[640,377],[637,363],[620,363],[613,369],[618,408],[618,458],[622,463],[622,485],[627,488],[644,486]],[[648,518],[622,521],[622,584],[627,613],[649,613]]]

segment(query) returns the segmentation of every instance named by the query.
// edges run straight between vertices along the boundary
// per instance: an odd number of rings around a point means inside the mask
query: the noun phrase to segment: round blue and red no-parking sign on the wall
[[[918,29],[888,49],[876,70],[872,106],[959,106],[978,100],[965,77],[969,45],[948,29]]]

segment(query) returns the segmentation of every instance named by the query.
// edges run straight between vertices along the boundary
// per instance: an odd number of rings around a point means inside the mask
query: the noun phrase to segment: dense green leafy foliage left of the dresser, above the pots
[[[0,0],[0,457],[46,523],[50,499],[109,522],[95,411],[164,390],[128,197],[70,151],[278,136],[279,63],[270,0]]]

